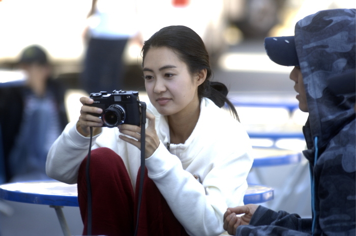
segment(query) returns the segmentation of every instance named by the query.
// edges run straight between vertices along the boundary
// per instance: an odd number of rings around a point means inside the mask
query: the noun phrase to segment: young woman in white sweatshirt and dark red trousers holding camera
[[[162,28],[145,42],[142,56],[150,104],[138,235],[219,235],[227,207],[244,204],[253,162],[248,134],[226,93],[215,89],[226,87],[211,86],[209,56],[193,30]],[[88,113],[102,110],[86,106],[93,103],[88,97],[80,101],[78,122],[66,127],[48,153],[47,174],[78,183],[86,227],[85,156],[94,127],[92,234],[133,235],[140,127],[101,128],[101,119]],[[225,103],[235,118],[220,108]]]

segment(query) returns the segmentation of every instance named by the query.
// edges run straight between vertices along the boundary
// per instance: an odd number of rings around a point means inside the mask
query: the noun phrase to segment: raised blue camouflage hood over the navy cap
[[[355,71],[355,9],[319,11],[295,25],[295,50],[307,94],[311,136],[326,146],[355,118],[354,90],[335,94],[330,80],[352,86],[343,75]]]

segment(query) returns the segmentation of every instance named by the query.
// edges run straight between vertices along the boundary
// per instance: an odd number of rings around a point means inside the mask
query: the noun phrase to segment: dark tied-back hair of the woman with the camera
[[[220,82],[210,81],[212,69],[209,63],[209,54],[202,39],[196,32],[182,25],[167,26],[160,29],[143,44],[141,51],[142,66],[147,52],[152,47],[167,47],[174,50],[181,60],[187,64],[191,74],[196,74],[206,69],[206,79],[198,87],[199,100],[202,97],[207,97],[213,100],[220,108],[226,103],[233,116],[239,120],[238,112],[226,97],[228,92],[226,86]]]

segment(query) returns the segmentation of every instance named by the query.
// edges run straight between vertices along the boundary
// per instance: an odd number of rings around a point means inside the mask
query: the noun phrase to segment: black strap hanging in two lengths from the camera
[[[141,207],[141,198],[142,198],[142,189],[143,189],[143,180],[145,173],[145,124],[146,124],[146,104],[144,102],[139,103],[141,107],[141,170],[140,170],[140,185],[138,191],[138,205],[137,205],[137,220],[136,220],[136,229],[135,236],[137,235],[138,229],[138,220],[140,215]],[[92,152],[92,140],[93,140],[93,127],[90,127],[90,143],[89,151],[86,159],[86,188],[87,188],[87,235],[92,235],[92,187],[90,183],[90,154]]]

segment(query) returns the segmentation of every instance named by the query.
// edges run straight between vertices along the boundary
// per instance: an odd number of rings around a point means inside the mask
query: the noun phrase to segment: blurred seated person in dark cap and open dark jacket
[[[25,48],[18,66],[25,85],[0,89],[0,127],[6,182],[49,179],[47,152],[68,123],[64,86],[52,78],[43,48]]]

